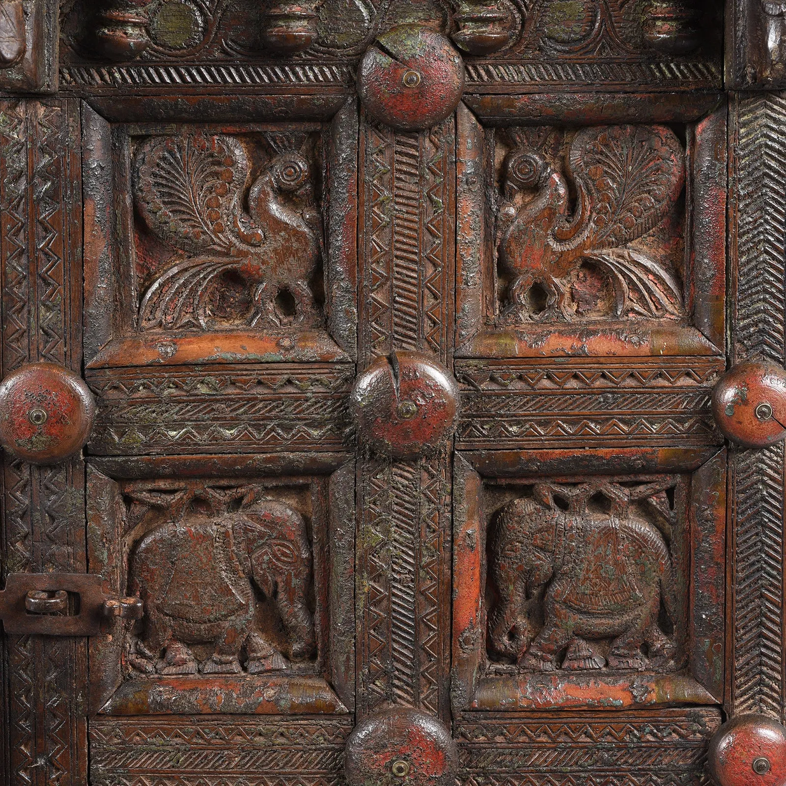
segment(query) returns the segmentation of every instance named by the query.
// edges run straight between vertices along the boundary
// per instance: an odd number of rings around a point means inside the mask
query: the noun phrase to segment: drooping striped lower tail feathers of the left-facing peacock
[[[607,248],[587,256],[612,274],[615,316],[671,319],[681,316],[679,282],[654,259],[630,248]]]

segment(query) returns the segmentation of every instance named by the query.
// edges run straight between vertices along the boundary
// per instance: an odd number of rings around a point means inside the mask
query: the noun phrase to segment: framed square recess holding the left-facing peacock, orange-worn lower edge
[[[460,109],[459,120],[459,356],[722,352],[722,114],[483,129]]]

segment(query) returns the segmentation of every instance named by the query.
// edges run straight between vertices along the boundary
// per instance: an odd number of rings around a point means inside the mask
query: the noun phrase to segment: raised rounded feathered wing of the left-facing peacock
[[[588,248],[614,248],[654,229],[682,190],[683,152],[662,126],[578,131],[568,157],[579,203],[589,204]]]

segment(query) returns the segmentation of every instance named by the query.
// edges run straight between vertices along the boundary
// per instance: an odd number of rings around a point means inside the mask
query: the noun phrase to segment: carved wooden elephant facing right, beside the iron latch
[[[170,506],[131,555],[129,593],[145,605],[131,665],[146,674],[239,674],[244,660],[249,674],[284,670],[281,638],[292,659],[309,659],[315,639],[303,516],[253,493],[237,510],[226,494],[183,494],[191,504]],[[260,601],[276,610],[282,635],[266,630],[270,621],[259,624]]]

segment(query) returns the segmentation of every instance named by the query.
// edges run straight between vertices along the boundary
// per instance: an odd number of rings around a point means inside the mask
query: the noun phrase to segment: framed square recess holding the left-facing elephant
[[[722,455],[687,469],[516,477],[500,466],[501,476],[481,477],[465,465],[454,703],[529,711],[717,701]]]

